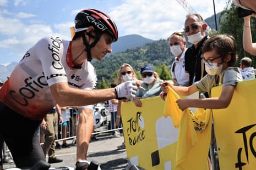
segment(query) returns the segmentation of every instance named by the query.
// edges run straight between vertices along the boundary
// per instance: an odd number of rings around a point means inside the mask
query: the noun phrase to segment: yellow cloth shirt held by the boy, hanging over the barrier
[[[205,170],[208,168],[207,158],[211,138],[211,110],[202,112],[204,109],[199,109],[195,115],[189,109],[182,112],[176,103],[176,100],[180,99],[180,97],[174,90],[170,87],[168,88],[169,92],[166,97],[164,116],[170,115],[173,122],[175,122],[173,125],[179,127],[176,166],[178,169],[184,170]],[[210,123],[208,124],[208,122]],[[202,128],[198,126],[202,126]],[[198,165],[198,161],[200,161],[200,165]]]

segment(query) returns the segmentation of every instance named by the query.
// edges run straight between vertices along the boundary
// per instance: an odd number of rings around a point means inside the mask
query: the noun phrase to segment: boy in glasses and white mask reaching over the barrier
[[[235,87],[239,81],[243,81],[241,72],[234,67],[237,61],[237,46],[235,38],[228,35],[216,35],[209,38],[202,52],[203,61],[207,75],[200,81],[195,82],[189,87],[178,87],[170,82],[161,83],[164,93],[168,92],[167,86],[170,86],[179,95],[187,96],[197,91],[208,92],[211,94],[211,88],[222,84],[220,97],[206,99],[188,99],[183,98],[176,101],[179,109],[185,110],[188,107],[198,107],[205,109],[223,109],[226,108],[232,99]],[[161,95],[164,99],[164,95]]]

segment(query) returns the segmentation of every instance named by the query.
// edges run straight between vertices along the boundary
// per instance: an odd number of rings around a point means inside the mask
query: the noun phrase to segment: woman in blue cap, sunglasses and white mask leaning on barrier
[[[138,107],[142,106],[141,98],[150,98],[159,95],[161,93],[159,84],[163,82],[151,64],[142,66],[140,74],[143,77],[143,83],[140,84],[142,88],[137,90],[136,97],[133,98],[134,104]]]

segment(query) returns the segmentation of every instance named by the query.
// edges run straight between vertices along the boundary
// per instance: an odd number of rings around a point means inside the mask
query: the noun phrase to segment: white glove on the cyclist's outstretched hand
[[[119,84],[118,86],[115,87],[117,99],[131,99],[135,97],[136,90],[136,81],[127,81],[124,83]]]

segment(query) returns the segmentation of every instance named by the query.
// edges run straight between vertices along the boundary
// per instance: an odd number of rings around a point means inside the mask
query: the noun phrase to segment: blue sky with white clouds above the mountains
[[[211,0],[187,2],[204,19],[214,14]],[[216,13],[228,0],[215,0]],[[69,28],[81,10],[95,8],[111,16],[119,36],[138,34],[150,39],[167,38],[182,31],[187,11],[176,0],[0,0],[0,64],[18,62],[34,43],[46,35],[70,39]]]

